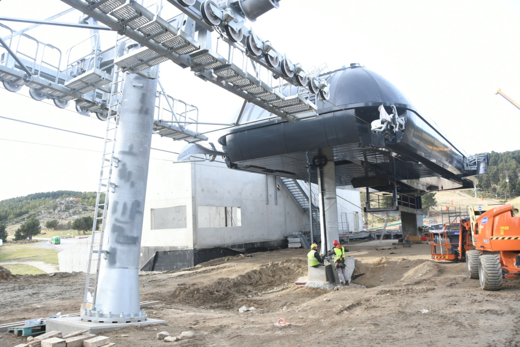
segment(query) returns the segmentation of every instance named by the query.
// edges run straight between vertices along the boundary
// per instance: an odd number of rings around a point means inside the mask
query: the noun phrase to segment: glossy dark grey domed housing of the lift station
[[[425,120],[410,100],[381,75],[360,66],[320,76],[330,83],[328,101],[316,102],[318,117],[294,123],[270,119],[269,112],[246,104],[240,125],[219,139],[228,166],[238,170],[316,182],[310,165],[320,149],[332,147],[338,186],[371,186],[402,192],[470,188],[464,155]],[[311,96],[311,100],[314,96]],[[375,133],[378,107],[395,106],[405,128],[394,135]]]

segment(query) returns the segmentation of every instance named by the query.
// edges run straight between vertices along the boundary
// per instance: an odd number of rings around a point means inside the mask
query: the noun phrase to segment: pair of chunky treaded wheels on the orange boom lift
[[[467,274],[470,278],[479,279],[484,290],[501,290],[503,286],[502,265],[500,256],[484,254],[478,250],[466,252]]]

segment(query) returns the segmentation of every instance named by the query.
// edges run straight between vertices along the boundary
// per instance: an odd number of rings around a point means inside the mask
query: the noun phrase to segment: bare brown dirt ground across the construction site
[[[366,288],[295,285],[307,275],[304,249],[217,259],[184,271],[142,272],[141,301],[160,301],[147,314],[167,324],[103,335],[129,347],[162,346],[165,342],[155,340],[160,331],[196,335],[170,342],[179,346],[520,345],[520,279],[504,280],[502,291],[483,291],[478,280],[466,276],[465,263],[432,261],[426,243],[404,248],[378,242],[348,246],[356,251],[350,254],[355,274],[364,274],[354,283]],[[79,312],[84,281],[80,273],[0,280],[0,324]],[[243,305],[256,310],[239,313]],[[291,325],[275,326],[279,318]],[[2,347],[23,341],[0,333]]]

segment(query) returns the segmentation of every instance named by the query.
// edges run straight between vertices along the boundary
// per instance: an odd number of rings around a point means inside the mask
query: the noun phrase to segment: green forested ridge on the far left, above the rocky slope
[[[0,201],[0,223],[37,211],[41,206],[53,202],[56,199],[74,197],[79,202],[87,205],[96,204],[96,192],[81,192],[72,190],[47,191],[35,193],[24,197],[11,198]],[[104,199],[104,198],[103,198]]]

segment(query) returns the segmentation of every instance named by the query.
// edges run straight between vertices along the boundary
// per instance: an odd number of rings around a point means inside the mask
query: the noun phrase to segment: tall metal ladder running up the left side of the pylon
[[[92,226],[92,238],[90,240],[90,250],[88,253],[87,279],[82,306],[85,313],[87,310],[96,310],[96,294],[100,260],[101,256],[105,259],[107,256],[107,251],[102,249],[103,234],[105,233],[107,221],[109,190],[115,187],[111,182],[112,169],[117,168],[119,161],[118,158],[114,157],[114,150],[119,126],[121,95],[123,93],[125,76],[126,72],[122,71],[121,68],[114,66],[114,78],[107,102],[107,132],[105,135],[105,147],[103,149],[103,158],[101,161],[96,209],[94,211],[94,224]],[[100,200],[103,192],[105,193],[105,199],[101,202]],[[100,210],[103,211],[101,216],[98,215]],[[101,222],[101,226],[99,230],[96,230],[99,222]]]

